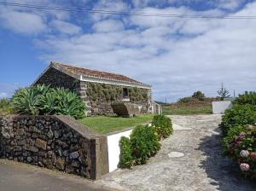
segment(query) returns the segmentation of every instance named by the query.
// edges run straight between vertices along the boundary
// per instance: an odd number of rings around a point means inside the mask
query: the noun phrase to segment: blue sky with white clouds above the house
[[[24,0],[44,6],[145,14],[256,16],[253,0]],[[88,14],[0,5],[0,97],[60,61],[153,85],[155,101],[201,90],[256,90],[256,20]]]

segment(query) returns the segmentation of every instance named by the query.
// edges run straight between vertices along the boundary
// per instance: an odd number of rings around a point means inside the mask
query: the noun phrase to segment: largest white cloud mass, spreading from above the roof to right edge
[[[256,3],[250,3],[236,14],[250,15],[254,9]],[[143,8],[142,11],[224,14],[217,9],[196,12],[173,7]],[[253,90],[256,83],[255,24],[255,20],[131,16],[128,21],[121,22],[103,18],[91,26],[95,30],[93,33],[40,42],[54,51],[54,54],[43,55],[42,59],[124,73],[153,84],[156,100],[167,97],[175,101],[178,97],[190,96],[195,90],[217,96],[221,82],[230,91],[242,92]]]

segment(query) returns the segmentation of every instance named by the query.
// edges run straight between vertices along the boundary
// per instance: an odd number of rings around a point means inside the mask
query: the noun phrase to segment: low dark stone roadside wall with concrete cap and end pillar
[[[108,173],[107,137],[68,116],[0,117],[0,157],[90,179]]]

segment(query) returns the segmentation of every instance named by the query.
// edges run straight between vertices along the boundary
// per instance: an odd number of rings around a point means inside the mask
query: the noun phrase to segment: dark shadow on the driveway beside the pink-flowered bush
[[[216,132],[220,133],[217,128]],[[206,136],[198,148],[206,156],[201,168],[212,179],[211,184],[221,191],[255,191],[256,182],[241,175],[239,166],[222,154],[221,135]]]

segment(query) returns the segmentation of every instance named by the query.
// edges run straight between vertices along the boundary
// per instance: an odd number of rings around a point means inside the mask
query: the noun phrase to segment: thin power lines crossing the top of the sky
[[[256,20],[256,16],[204,16],[204,15],[186,15],[186,14],[146,14],[142,12],[120,12],[114,10],[103,10],[103,9],[79,9],[79,8],[67,8],[67,7],[51,7],[36,4],[25,4],[25,3],[5,3],[0,2],[2,6],[19,7],[27,9],[47,9],[56,11],[67,11],[67,12],[84,12],[94,14],[119,14],[119,15],[134,15],[134,16],[145,16],[145,17],[166,17],[166,18],[182,18],[182,19],[227,19],[227,20]]]

